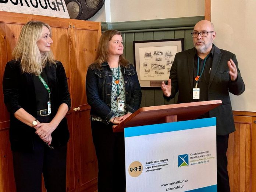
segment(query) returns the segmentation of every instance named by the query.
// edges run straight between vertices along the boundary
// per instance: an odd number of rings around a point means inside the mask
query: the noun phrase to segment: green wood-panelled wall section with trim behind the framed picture
[[[191,49],[193,41],[190,33],[193,32],[193,26],[196,22],[202,19],[204,19],[204,16],[102,23],[102,31],[108,29],[121,31],[124,42],[124,56],[131,63],[134,63],[133,41],[184,38],[184,49]],[[167,102],[163,98],[161,88],[142,88],[141,107],[174,103],[177,103],[177,95],[170,102]]]

